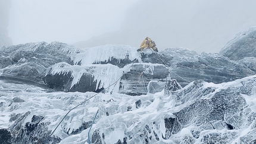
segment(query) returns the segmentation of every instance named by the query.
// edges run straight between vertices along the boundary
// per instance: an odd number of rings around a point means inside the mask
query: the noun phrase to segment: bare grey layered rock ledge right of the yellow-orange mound
[[[188,49],[168,48],[160,53],[143,53],[142,61],[166,65],[171,79],[176,79],[182,87],[194,80],[222,83],[255,74],[254,61],[232,61],[220,54],[198,55]]]

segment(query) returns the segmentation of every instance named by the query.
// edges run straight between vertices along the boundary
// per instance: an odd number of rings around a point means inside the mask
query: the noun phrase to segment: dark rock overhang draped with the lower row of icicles
[[[115,65],[69,65],[55,64],[48,68],[43,80],[50,87],[64,89],[67,92],[95,92],[118,81],[123,72]],[[118,87],[118,86],[117,86]],[[107,91],[115,87],[108,87]]]

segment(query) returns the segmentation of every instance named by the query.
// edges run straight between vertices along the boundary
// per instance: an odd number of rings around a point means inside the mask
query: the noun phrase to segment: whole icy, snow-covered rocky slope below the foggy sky
[[[60,42],[0,54],[2,143],[256,142],[253,55]]]

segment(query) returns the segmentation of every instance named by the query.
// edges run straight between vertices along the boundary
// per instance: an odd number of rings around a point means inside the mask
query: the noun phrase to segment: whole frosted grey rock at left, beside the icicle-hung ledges
[[[74,51],[76,48],[60,42],[26,43],[2,47],[0,48],[1,77],[42,84],[41,76],[46,68],[58,62],[73,64],[70,59],[72,49]]]

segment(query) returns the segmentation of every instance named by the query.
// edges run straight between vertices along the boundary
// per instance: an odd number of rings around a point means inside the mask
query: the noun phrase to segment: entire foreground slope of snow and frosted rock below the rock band
[[[170,95],[129,96],[49,93],[0,80],[0,127],[12,143],[88,143],[88,133],[93,143],[254,143],[255,82],[195,81]],[[12,102],[17,97],[23,101]]]

